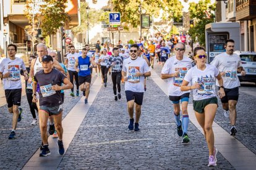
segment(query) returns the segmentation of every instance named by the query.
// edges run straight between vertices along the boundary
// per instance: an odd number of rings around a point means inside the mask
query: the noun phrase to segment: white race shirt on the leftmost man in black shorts
[[[3,78],[4,89],[21,89],[22,84],[20,81],[20,69],[26,70],[25,63],[20,58],[15,58],[11,60],[9,58],[2,60],[0,64],[0,71],[2,75],[7,72],[12,73],[12,78]]]

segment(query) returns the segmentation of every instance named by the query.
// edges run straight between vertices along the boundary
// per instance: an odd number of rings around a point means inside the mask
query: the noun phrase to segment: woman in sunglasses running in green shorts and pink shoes
[[[208,166],[216,166],[216,155],[218,150],[214,147],[214,134],[212,129],[213,119],[218,108],[218,99],[215,94],[215,78],[221,85],[218,95],[224,97],[223,79],[214,65],[208,65],[207,55],[203,47],[195,47],[194,59],[197,63],[195,67],[187,71],[181,84],[181,91],[193,89],[193,107],[198,123],[203,129],[205,139],[209,149]],[[191,86],[189,83],[192,83]]]

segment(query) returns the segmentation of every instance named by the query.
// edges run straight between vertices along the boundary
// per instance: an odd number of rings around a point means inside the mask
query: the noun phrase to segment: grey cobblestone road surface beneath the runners
[[[139,132],[127,129],[129,116],[124,84],[121,86],[122,99],[116,102],[110,76],[108,76],[107,87],[101,86],[100,81],[97,81],[94,76],[93,82],[98,85],[92,84],[92,87],[96,85],[101,87],[95,93],[95,99],[89,102],[88,111],[84,111],[84,118],[77,120],[81,122],[77,127],[77,132],[70,139],[64,156],[59,156],[60,161],[54,166],[46,166],[48,160],[51,159],[54,164],[53,155],[49,155],[46,160],[46,158],[39,157],[36,152],[41,144],[40,131],[38,126],[30,126],[32,115],[25,96],[22,97],[23,119],[18,123],[15,140],[7,139],[11,131],[12,115],[7,113],[6,105],[0,107],[0,124],[2,125],[0,129],[0,169],[246,169],[241,166],[237,168],[237,164],[230,161],[230,157],[236,155],[227,152],[219,152],[217,166],[208,168],[207,144],[197,124],[192,123],[194,120],[191,120],[189,124],[190,143],[181,144],[181,137],[177,136],[176,132],[171,102],[161,89],[163,87],[155,81],[160,76],[161,65],[155,65],[153,71],[155,75],[147,80],[147,92],[144,94]],[[239,89],[237,136],[230,137],[226,134],[225,136],[235,142],[241,142],[239,146],[242,151],[237,154],[250,156],[248,161],[255,163],[252,160],[256,154],[254,131],[256,87],[246,84]],[[83,98],[80,99],[81,96],[70,97],[69,91],[65,93],[63,118],[66,119],[75,113],[76,109],[81,110],[84,106],[79,103],[83,100]],[[191,98],[189,103],[192,104]],[[193,114],[193,111],[189,112]],[[215,123],[224,132],[229,132],[229,119],[223,116],[220,100]],[[69,131],[68,127],[64,131]],[[215,136],[217,132],[215,131]],[[221,133],[224,134],[224,132]],[[220,144],[220,137],[218,135],[215,139],[220,150],[225,147],[238,146],[238,144],[225,144],[226,140],[221,140],[223,143]],[[64,140],[64,145],[66,143],[67,140]],[[249,152],[244,152],[245,149]],[[56,148],[51,152],[56,152]],[[36,158],[40,165],[28,166],[32,158]],[[247,169],[255,168],[254,164],[247,167]]]

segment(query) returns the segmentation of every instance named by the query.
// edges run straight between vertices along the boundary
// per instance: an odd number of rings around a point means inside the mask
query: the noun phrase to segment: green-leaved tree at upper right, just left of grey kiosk
[[[198,4],[189,3],[190,19],[194,19],[194,27],[190,28],[189,34],[195,42],[197,37],[201,46],[205,46],[205,25],[214,22],[214,14],[208,12],[208,9],[215,11],[215,4],[210,5],[210,0],[200,0]]]

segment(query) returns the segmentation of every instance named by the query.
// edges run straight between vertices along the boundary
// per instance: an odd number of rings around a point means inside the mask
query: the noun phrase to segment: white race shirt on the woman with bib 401
[[[214,65],[205,64],[205,70],[199,70],[197,65],[190,68],[184,78],[185,81],[201,84],[200,89],[193,89],[194,100],[210,99],[216,97],[215,94],[215,77],[219,75],[218,69]]]

